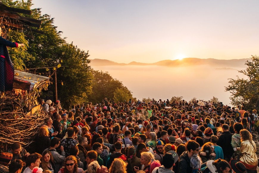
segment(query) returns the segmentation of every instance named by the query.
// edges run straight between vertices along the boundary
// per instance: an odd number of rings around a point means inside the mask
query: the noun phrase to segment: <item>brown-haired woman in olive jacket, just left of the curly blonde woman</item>
[[[140,158],[136,157],[136,152],[137,150],[135,149],[134,146],[128,147],[128,152],[127,152],[127,172],[128,173],[135,173],[134,167],[139,167],[140,166]]]

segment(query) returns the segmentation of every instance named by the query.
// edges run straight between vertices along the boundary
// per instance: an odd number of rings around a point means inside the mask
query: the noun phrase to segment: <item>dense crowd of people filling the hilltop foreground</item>
[[[254,173],[256,110],[210,101],[46,103],[35,153],[15,142],[1,153],[9,172]]]

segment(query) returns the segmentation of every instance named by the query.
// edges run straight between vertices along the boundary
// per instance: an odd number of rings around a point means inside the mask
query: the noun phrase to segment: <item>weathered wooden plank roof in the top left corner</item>
[[[2,18],[0,22],[2,22],[4,25],[8,27],[18,28],[20,32],[23,32],[24,30],[28,30],[29,32],[44,34],[43,31],[39,31],[31,28],[31,27],[40,28],[42,21],[34,18],[24,17],[18,13],[30,15],[32,14],[32,11],[24,10],[20,8],[7,7],[5,4],[3,4],[0,1],[0,18]],[[24,35],[26,35],[27,37],[33,37],[33,35],[29,35],[26,33],[24,33]]]

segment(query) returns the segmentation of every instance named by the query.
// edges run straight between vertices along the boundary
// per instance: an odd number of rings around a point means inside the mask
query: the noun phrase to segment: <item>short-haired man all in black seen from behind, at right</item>
[[[227,124],[222,125],[223,133],[219,136],[219,141],[217,145],[220,146],[224,153],[224,160],[230,162],[232,155],[234,153],[233,147],[231,145],[232,133],[229,132],[229,126]]]

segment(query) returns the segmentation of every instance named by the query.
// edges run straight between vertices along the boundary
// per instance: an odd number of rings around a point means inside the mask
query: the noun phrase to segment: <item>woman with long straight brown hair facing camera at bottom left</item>
[[[42,158],[40,167],[43,169],[43,171],[51,171],[54,172],[55,165],[54,165],[54,159],[52,157],[52,154],[49,150],[46,150],[42,153]]]

